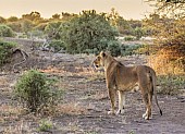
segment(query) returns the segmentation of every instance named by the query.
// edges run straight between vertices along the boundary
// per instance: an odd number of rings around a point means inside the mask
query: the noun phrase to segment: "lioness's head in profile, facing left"
[[[104,60],[107,58],[107,53],[101,51],[96,59],[94,60],[92,64],[95,68],[100,68],[104,65]]]

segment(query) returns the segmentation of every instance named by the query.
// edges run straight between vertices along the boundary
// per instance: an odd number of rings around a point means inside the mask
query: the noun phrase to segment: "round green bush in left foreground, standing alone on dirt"
[[[54,108],[53,106],[60,100],[61,90],[57,89],[55,83],[55,78],[29,70],[17,81],[14,94],[30,112],[40,112],[46,108]]]

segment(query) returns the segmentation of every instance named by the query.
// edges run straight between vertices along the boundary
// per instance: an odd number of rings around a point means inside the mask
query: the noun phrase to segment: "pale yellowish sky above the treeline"
[[[49,19],[55,13],[79,13],[83,10],[96,10],[109,13],[114,8],[126,20],[140,20],[152,8],[145,0],[0,0],[0,16],[21,17],[32,11],[38,11],[42,17]]]

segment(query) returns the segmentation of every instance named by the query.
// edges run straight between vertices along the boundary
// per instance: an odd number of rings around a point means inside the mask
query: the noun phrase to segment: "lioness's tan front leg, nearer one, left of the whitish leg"
[[[115,89],[109,88],[109,97],[111,100],[111,111],[109,111],[108,114],[115,114]]]

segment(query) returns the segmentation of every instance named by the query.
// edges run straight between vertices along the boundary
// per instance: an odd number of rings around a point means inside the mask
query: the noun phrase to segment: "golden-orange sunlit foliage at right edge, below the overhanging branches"
[[[165,70],[173,64],[174,69],[183,71],[185,69],[185,21],[152,15],[146,20],[146,23],[147,26],[152,27],[156,37],[157,56],[153,59],[153,66],[156,66],[155,61],[160,59],[162,64],[166,64]],[[159,62],[157,65],[160,65]],[[171,74],[181,72],[172,71]]]

